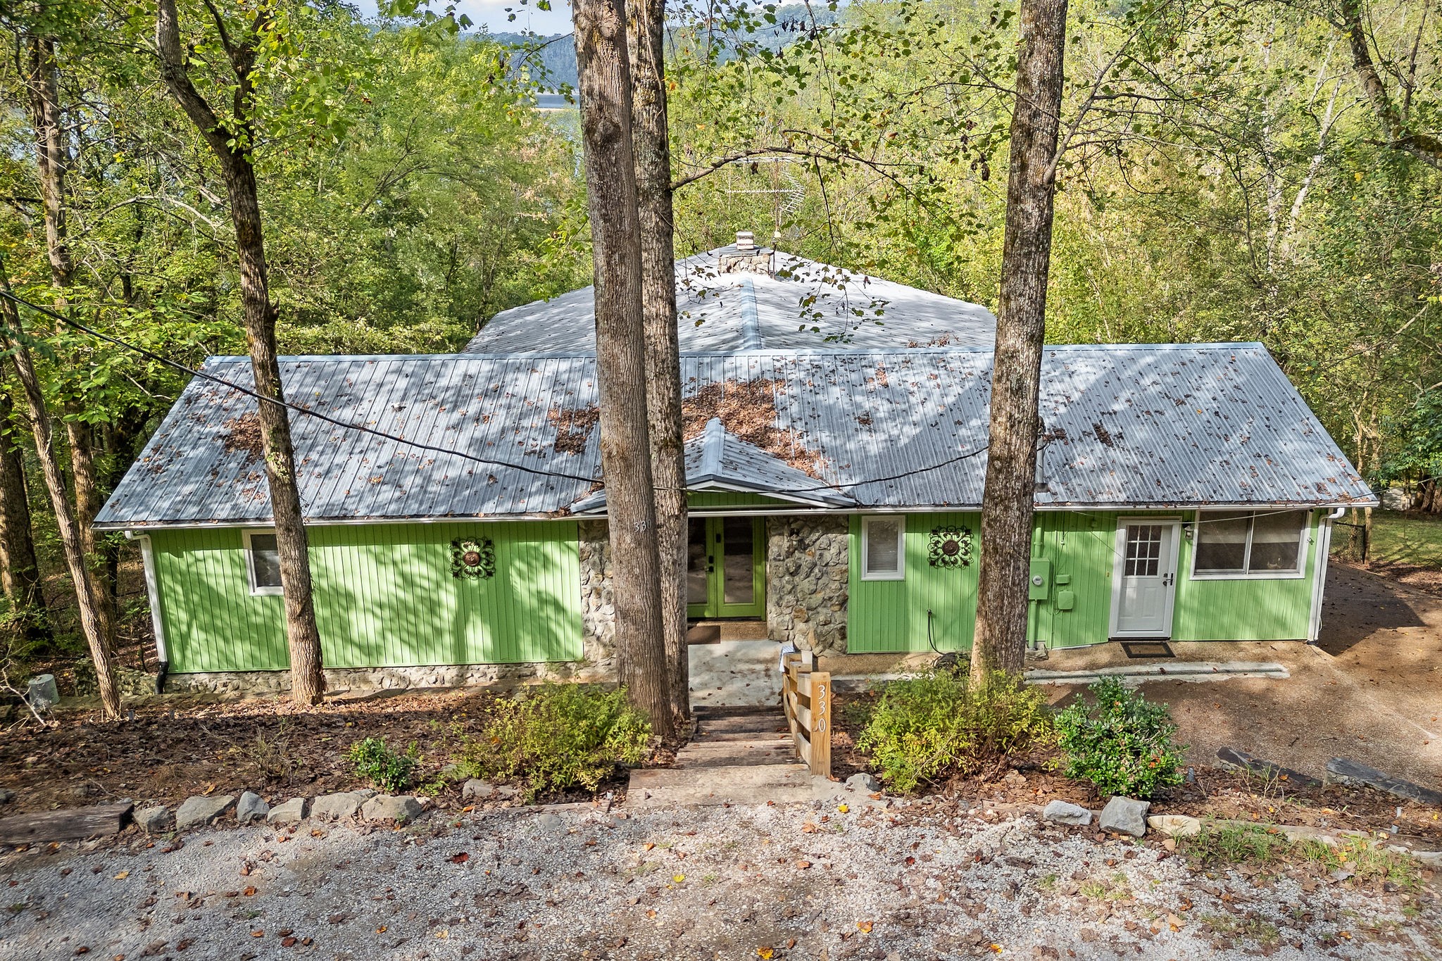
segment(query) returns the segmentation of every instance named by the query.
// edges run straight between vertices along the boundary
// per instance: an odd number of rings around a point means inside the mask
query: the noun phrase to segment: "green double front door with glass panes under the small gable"
[[[766,615],[766,526],[760,517],[692,517],[686,614]]]

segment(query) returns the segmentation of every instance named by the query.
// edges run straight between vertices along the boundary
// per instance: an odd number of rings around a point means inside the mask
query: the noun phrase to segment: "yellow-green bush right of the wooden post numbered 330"
[[[887,684],[857,746],[898,791],[943,774],[998,771],[1007,759],[1051,741],[1047,699],[1014,674],[972,684],[937,671]]]

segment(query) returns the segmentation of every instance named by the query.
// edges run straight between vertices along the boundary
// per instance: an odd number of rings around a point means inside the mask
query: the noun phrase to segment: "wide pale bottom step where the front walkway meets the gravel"
[[[815,794],[812,775],[803,764],[652,768],[632,771],[626,807],[797,804],[809,803]]]

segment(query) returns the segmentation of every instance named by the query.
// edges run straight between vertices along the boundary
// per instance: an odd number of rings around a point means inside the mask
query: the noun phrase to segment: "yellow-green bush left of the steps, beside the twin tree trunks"
[[[526,801],[583,787],[594,791],[620,765],[640,762],[650,722],[622,690],[536,684],[496,703],[480,738],[466,742],[467,777],[525,781]]]

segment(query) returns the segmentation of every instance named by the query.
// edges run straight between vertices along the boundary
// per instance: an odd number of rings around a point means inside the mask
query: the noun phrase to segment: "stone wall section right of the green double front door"
[[[846,653],[849,520],[769,517],[766,621],[774,641]]]

